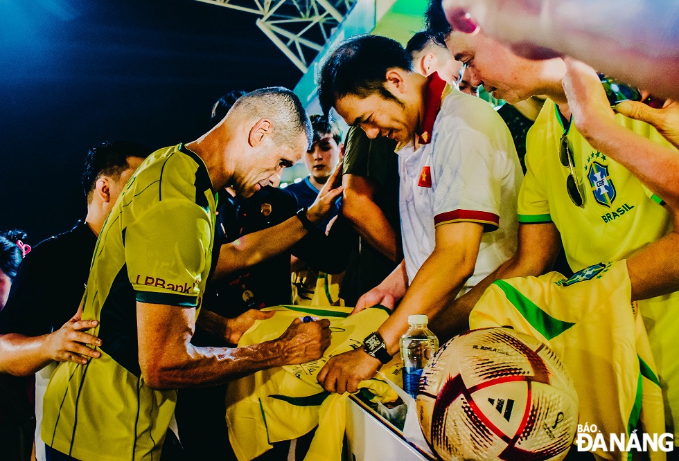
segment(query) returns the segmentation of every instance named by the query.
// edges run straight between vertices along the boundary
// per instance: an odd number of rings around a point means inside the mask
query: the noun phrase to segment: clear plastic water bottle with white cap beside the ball
[[[434,353],[439,350],[439,338],[427,328],[429,319],[425,315],[408,316],[410,328],[400,338],[400,356],[403,359],[403,390],[413,398],[422,370]]]

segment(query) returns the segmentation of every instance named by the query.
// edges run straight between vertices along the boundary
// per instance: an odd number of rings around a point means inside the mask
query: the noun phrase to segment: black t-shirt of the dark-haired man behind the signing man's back
[[[96,245],[96,235],[79,221],[67,233],[46,239],[19,266],[0,334],[40,336],[59,329],[76,314]],[[33,417],[33,377],[0,374],[0,421]]]

